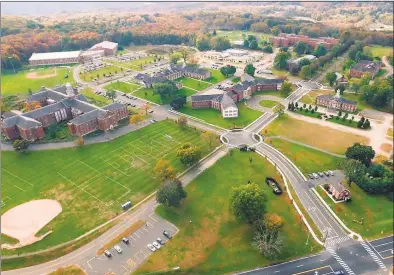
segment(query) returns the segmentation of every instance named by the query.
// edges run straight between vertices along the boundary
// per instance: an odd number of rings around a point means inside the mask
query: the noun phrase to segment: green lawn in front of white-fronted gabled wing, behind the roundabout
[[[248,124],[255,121],[263,113],[248,108],[243,102],[237,104],[238,106],[238,117],[237,118],[223,118],[222,113],[219,110],[204,108],[204,109],[193,109],[190,102],[183,106],[179,112],[194,116],[196,118],[205,120],[208,123],[231,129],[234,126],[243,128]]]

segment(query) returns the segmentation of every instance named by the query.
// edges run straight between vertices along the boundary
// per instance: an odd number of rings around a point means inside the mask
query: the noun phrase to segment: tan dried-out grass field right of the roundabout
[[[263,130],[262,134],[287,137],[337,154],[344,154],[355,142],[368,143],[365,137],[308,123],[287,115],[278,117]]]

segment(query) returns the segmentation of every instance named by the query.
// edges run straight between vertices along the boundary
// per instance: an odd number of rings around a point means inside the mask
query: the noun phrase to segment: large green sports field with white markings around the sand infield
[[[50,154],[3,152],[1,213],[33,199],[56,199],[63,207],[63,212],[39,232],[53,230],[52,234],[3,255],[74,239],[119,214],[125,201],[141,201],[161,183],[152,174],[159,159],[168,160],[177,172],[185,169],[176,157],[176,149],[185,142],[200,146],[203,155],[208,152],[199,131],[181,129],[171,121],[110,142],[51,150]]]

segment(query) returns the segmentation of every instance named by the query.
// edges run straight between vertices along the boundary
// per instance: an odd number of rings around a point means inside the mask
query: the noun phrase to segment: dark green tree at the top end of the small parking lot
[[[178,207],[187,196],[182,183],[174,179],[169,184],[163,185],[156,193],[156,201],[167,207]]]

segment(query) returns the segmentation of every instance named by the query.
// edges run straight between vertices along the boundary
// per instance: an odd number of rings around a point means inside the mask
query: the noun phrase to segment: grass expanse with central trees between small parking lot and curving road
[[[250,157],[252,164],[249,163]],[[316,243],[312,243],[315,247],[311,251],[312,238],[305,245],[308,233],[287,193],[274,195],[265,183],[266,177],[277,179],[285,190],[281,176],[272,164],[257,154],[238,150],[200,174],[186,187],[188,196],[181,207],[158,207],[157,213],[174,223],[180,231],[160,251],[153,253],[137,274],[175,266],[181,268],[181,274],[229,274],[319,251]],[[266,194],[266,211],[277,213],[284,220],[286,244],[283,254],[276,260],[266,259],[251,247],[252,227],[235,221],[229,211],[231,188],[247,184],[248,180],[258,184]]]

